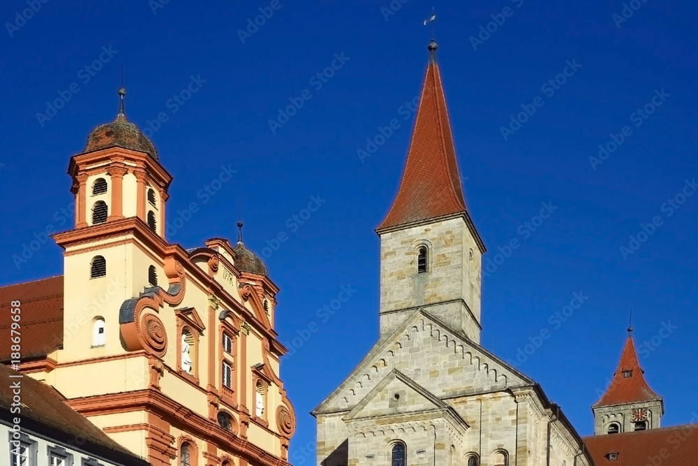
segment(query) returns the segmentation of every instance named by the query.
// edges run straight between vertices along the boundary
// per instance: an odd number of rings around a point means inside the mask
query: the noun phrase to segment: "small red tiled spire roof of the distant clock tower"
[[[631,371],[630,377],[625,377],[623,372]],[[625,342],[621,362],[618,363],[618,369],[614,374],[611,386],[596,402],[594,407],[610,406],[610,405],[625,405],[626,403],[662,400],[662,398],[654,393],[645,381],[644,371],[641,370],[635,354],[635,344],[632,341],[632,336],[628,335],[628,340]]]

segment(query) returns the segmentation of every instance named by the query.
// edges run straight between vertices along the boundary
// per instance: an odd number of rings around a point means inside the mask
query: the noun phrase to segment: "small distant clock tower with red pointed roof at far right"
[[[611,385],[592,407],[595,435],[660,428],[664,401],[647,385],[643,374],[629,327],[628,340]]]

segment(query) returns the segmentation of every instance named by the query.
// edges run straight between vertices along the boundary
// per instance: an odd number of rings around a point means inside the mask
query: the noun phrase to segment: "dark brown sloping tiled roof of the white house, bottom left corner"
[[[89,444],[92,444],[103,449],[116,451],[120,458],[130,457],[128,458],[129,465],[147,465],[145,460],[114,442],[103,430],[66,405],[64,396],[52,386],[32,379],[28,375],[19,379],[10,378],[10,374],[17,375],[19,372],[0,364],[0,409],[10,410],[13,403],[13,388],[10,385],[20,381],[22,397],[20,415],[22,420],[31,419],[31,421],[50,428],[52,431],[68,435],[70,439],[84,439],[86,443],[82,444],[81,448],[87,451],[91,450]]]

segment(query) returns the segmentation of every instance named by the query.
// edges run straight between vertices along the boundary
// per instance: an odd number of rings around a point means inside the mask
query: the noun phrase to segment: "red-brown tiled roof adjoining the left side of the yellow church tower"
[[[63,344],[62,276],[0,288],[1,309],[7,310],[13,300],[22,303],[22,359],[46,356]],[[0,312],[0,342],[10,341],[12,315]],[[8,361],[10,352],[9,344],[0,345],[0,361]]]

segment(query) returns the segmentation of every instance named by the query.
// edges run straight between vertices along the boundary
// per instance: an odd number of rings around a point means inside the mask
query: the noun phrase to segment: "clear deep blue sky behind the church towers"
[[[432,5],[160,1],[47,1],[26,22],[16,16],[26,1],[3,3],[0,19],[15,27],[0,31],[0,282],[62,273],[51,240],[26,263],[13,255],[47,226],[69,228],[57,213],[70,207],[68,159],[116,115],[124,64],[126,115],[156,129],[174,175],[168,221],[200,205],[169,239],[234,240],[241,201],[248,247],[262,254],[267,240],[288,238],[265,262],[281,287],[277,330],[293,351],[282,364],[298,419],[292,460],[310,464],[301,451],[315,436],[308,413],[378,335],[373,228],[399,184]],[[664,425],[698,412],[698,6],[631,3],[637,9],[620,0],[436,2],[466,202],[484,259],[496,265],[484,277],[482,343],[540,382],[582,435],[593,432],[589,407],[616,369],[630,308],[641,365],[664,396]],[[273,14],[240,34],[260,8]],[[313,80],[333,61],[331,78]],[[191,80],[197,92],[177,103]],[[56,99],[68,101],[47,114]],[[279,119],[279,108],[301,101]],[[362,160],[357,150],[394,118],[400,127]],[[223,166],[235,178],[205,196]],[[311,196],[320,207],[300,224],[293,216]],[[543,203],[553,213],[540,222]],[[497,259],[512,239],[520,246]],[[322,321],[318,309],[342,286],[355,292]],[[588,299],[563,321],[555,313],[574,293]],[[312,323],[318,330],[292,344]],[[531,340],[540,347],[517,361]]]

